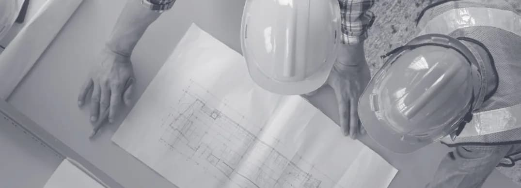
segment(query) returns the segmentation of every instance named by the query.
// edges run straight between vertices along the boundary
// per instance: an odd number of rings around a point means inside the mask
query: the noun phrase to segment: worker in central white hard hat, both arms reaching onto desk
[[[103,121],[103,114],[108,114],[108,121],[113,122],[121,101],[130,105],[135,82],[132,50],[148,25],[174,3],[175,0],[127,2],[78,97],[78,105],[83,106],[87,93],[92,91],[92,123]],[[359,132],[356,105],[370,78],[363,42],[374,20],[368,11],[373,4],[374,0],[246,1],[244,15],[249,20],[243,19],[241,33],[246,33],[247,24],[249,37],[243,35],[241,41],[255,83],[285,95],[302,95],[323,84],[330,85],[340,103],[342,130],[354,139]],[[300,19],[304,17],[308,20]],[[264,32],[268,30],[261,26],[268,25],[272,37],[267,43],[272,44],[273,51],[265,49]],[[284,36],[288,28],[291,33]],[[284,43],[284,39],[290,43]],[[286,77],[270,68],[274,63],[278,71],[288,71],[283,75]]]

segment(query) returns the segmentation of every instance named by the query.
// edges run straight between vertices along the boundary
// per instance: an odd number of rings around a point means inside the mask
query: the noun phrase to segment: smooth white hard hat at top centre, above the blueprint
[[[264,89],[301,95],[321,87],[340,43],[338,0],[246,0],[241,48]]]

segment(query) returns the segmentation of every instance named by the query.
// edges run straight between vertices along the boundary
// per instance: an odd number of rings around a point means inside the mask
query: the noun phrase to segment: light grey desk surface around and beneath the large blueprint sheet
[[[173,187],[150,168],[110,141],[121,124],[102,129],[89,141],[92,127],[88,109],[77,107],[77,93],[91,61],[106,41],[122,9],[123,0],[86,0],[49,46],[8,102],[76,150],[89,162],[125,187]],[[240,51],[240,20],[244,0],[178,0],[145,33],[132,61],[138,78],[139,97],[192,22],[232,49]],[[330,89],[309,99],[338,122],[337,104]],[[124,113],[127,114],[128,110]],[[146,126],[146,125],[143,125]],[[339,129],[340,133],[340,129]],[[362,142],[400,170],[389,187],[423,187],[449,150],[432,144],[418,152],[396,155],[367,137]],[[349,150],[349,148],[346,148]],[[494,171],[484,187],[516,187]]]

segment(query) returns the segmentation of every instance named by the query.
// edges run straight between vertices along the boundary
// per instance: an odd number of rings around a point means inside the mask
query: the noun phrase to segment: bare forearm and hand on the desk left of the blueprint
[[[122,102],[127,106],[131,104],[135,78],[130,56],[148,26],[160,15],[135,1],[128,1],[121,11],[106,47],[98,56],[100,59],[94,62],[78,97],[81,107],[92,91],[90,119],[95,128],[91,138],[107,117],[109,123],[114,121]]]

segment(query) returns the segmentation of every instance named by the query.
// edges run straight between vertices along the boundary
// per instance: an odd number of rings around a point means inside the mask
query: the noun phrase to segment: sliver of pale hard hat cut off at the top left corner
[[[0,39],[2,39],[13,23],[15,23],[20,10],[20,1],[18,0],[1,0],[0,1]]]

